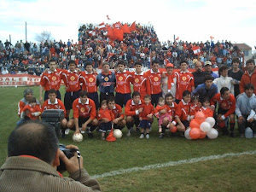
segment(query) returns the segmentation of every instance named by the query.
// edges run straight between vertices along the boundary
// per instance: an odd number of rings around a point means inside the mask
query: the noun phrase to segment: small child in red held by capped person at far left
[[[29,104],[23,108],[23,115],[26,117],[25,119],[39,119],[42,109],[37,105],[36,97],[32,97],[28,102]]]

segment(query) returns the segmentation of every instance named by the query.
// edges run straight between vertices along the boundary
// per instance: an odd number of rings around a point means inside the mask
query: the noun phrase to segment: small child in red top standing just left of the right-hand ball
[[[111,109],[108,108],[107,100],[102,101],[102,108],[100,108],[98,113],[99,127],[102,132],[102,140],[106,140],[105,135],[107,131],[111,131],[112,121],[114,119],[114,114]]]

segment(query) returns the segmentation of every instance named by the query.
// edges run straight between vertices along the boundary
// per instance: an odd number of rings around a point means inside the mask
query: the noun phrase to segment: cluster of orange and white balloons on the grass
[[[218,137],[218,131],[212,128],[215,125],[215,119],[205,116],[202,112],[195,113],[195,119],[192,119],[189,124],[189,129],[185,131],[187,139],[205,138],[210,139]]]

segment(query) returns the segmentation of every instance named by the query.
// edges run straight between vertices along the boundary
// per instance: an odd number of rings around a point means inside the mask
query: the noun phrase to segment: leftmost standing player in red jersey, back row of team
[[[48,91],[50,89],[56,90],[57,98],[61,100],[61,69],[56,69],[57,64],[55,60],[49,61],[49,70],[42,73],[39,87],[39,96],[40,102],[43,103],[43,89],[44,92],[44,101],[48,99]]]

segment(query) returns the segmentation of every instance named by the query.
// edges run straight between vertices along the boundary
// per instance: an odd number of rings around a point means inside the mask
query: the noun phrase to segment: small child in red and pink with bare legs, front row
[[[158,99],[158,105],[155,108],[155,116],[159,119],[158,120],[158,126],[159,126],[159,132],[162,132],[162,123],[163,119],[168,118],[169,121],[172,121],[170,115],[168,114],[169,107],[165,103],[165,99],[163,97],[159,97]]]

